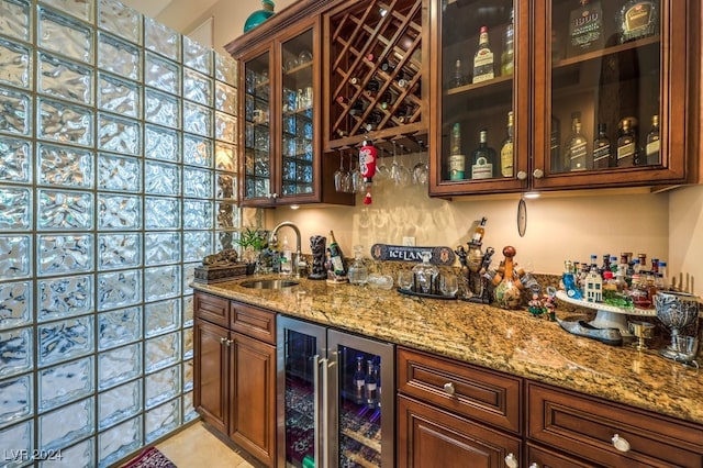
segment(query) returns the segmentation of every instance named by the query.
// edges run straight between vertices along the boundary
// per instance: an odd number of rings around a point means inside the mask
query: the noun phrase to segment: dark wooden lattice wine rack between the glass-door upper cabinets
[[[355,0],[325,16],[326,151],[426,134],[423,3]]]

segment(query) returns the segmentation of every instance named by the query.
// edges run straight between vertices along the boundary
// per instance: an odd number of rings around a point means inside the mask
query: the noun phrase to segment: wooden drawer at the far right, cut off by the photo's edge
[[[703,466],[703,426],[539,383],[527,385],[527,437],[616,467]],[[626,441],[621,450],[612,439]]]

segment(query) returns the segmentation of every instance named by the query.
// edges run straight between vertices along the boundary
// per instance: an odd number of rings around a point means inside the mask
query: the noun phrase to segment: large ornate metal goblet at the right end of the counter
[[[657,319],[671,330],[671,343],[659,354],[666,358],[680,358],[679,334],[681,328],[691,325],[699,317],[699,300],[685,292],[658,292],[655,296]]]

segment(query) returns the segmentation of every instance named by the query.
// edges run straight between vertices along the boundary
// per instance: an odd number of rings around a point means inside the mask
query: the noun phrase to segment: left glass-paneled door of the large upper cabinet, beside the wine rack
[[[429,193],[527,187],[527,2],[436,0]]]

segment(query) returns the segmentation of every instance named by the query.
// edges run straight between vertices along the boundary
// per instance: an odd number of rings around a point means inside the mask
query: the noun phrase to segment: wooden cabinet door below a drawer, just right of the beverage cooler
[[[504,467],[521,439],[415,400],[398,398],[398,466]]]

